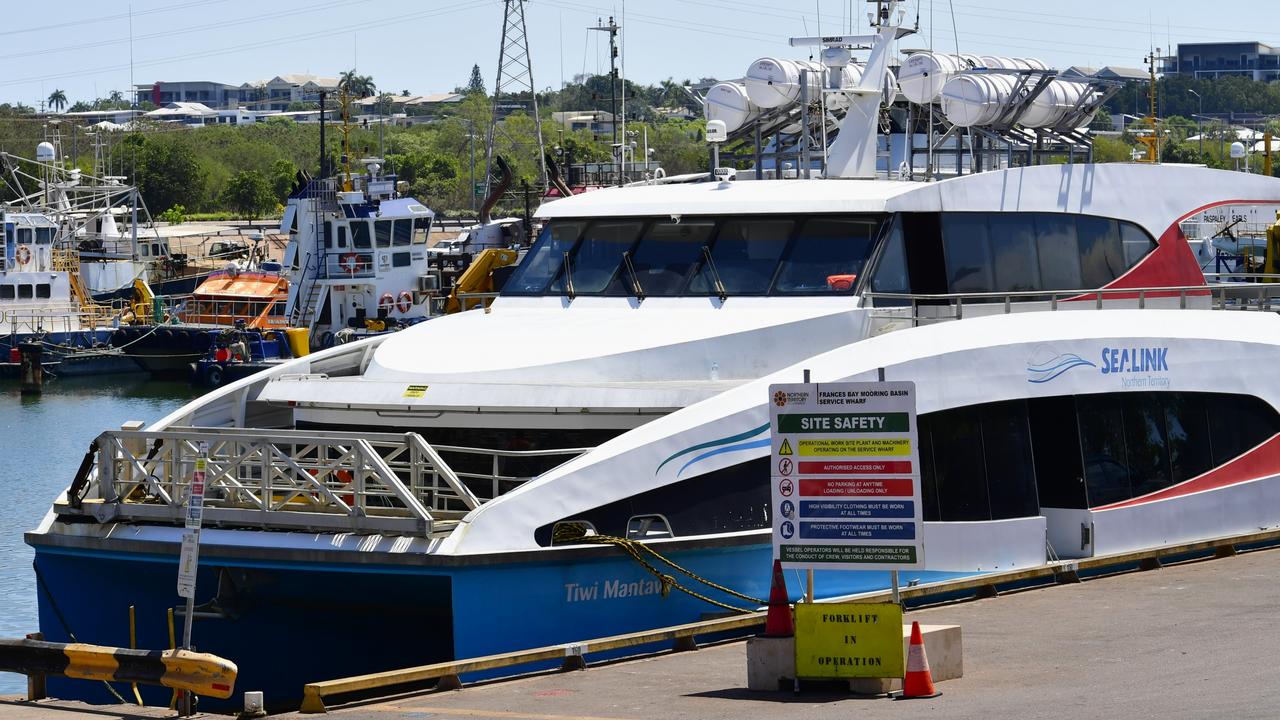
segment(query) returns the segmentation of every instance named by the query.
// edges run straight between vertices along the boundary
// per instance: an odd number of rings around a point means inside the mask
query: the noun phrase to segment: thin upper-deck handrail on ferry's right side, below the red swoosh
[[[1262,277],[1280,278],[1280,275],[1245,275],[1244,273],[1225,274],[1224,277]],[[911,319],[919,320],[960,320],[964,318],[965,301],[975,307],[998,307],[1002,302],[1002,313],[1010,314],[1015,309],[1038,309],[1032,304],[1048,304],[1050,310],[1057,310],[1060,304],[1071,309],[1088,309],[1088,301],[1093,300],[1093,307],[1102,310],[1102,302],[1117,300],[1137,300],[1138,309],[1146,309],[1148,300],[1178,299],[1178,309],[1187,309],[1187,300],[1207,299],[1211,310],[1263,310],[1270,311],[1272,299],[1280,297],[1280,283],[1268,282],[1222,282],[1212,284],[1194,286],[1157,286],[1157,287],[1116,287],[1094,290],[1020,290],[1006,292],[943,292],[943,293],[908,293],[908,292],[873,292],[863,293],[870,302],[873,310],[882,310],[878,316],[897,318],[896,310],[904,307],[901,304],[877,306],[877,300],[908,301]],[[1015,301],[1018,302],[1015,305]],[[922,315],[920,307],[954,307],[954,315]],[[1161,307],[1167,307],[1161,304]]]

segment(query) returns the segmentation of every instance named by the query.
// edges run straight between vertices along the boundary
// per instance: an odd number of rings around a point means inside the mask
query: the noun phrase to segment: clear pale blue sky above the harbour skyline
[[[916,8],[920,14],[920,35],[904,38],[904,47],[932,41],[951,51],[959,40],[964,53],[1029,55],[1057,68],[1140,67],[1149,46],[1167,47],[1170,40],[1280,44],[1280,27],[1268,22],[1274,0],[910,0],[904,6],[911,18]],[[850,19],[850,8],[858,19]],[[786,40],[815,35],[819,10],[823,33],[850,24],[856,32],[865,28],[867,8],[864,0],[529,0],[526,15],[541,88],[608,68],[605,33],[585,29],[598,17],[618,17],[627,77],[652,83],[740,77],[759,56],[805,56]],[[54,88],[72,101],[127,92],[128,13],[125,3],[100,0],[6,3],[0,101],[38,106]],[[283,73],[337,76],[355,65],[381,90],[429,94],[463,85],[479,63],[492,90],[500,22],[500,0],[136,0],[132,78],[238,85]],[[1265,35],[1268,29],[1275,36]]]

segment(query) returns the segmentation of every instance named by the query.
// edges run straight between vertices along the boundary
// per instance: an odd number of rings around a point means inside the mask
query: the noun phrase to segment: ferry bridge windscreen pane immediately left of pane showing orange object
[[[689,283],[689,292],[713,295],[718,274],[728,295],[764,295],[792,228],[795,220],[780,218],[724,220],[710,249],[716,273],[704,260]]]

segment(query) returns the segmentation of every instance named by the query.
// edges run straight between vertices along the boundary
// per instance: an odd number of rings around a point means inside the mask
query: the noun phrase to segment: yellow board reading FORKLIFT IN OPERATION
[[[797,602],[796,676],[901,678],[902,607]]]

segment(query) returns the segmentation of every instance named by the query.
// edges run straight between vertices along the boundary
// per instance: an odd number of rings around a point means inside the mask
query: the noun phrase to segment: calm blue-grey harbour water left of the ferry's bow
[[[38,629],[32,551],[22,534],[70,484],[93,438],[127,420],[150,424],[196,395],[186,383],[146,375],[58,379],[38,397],[0,382],[0,638]],[[0,673],[0,694],[26,688],[22,675]]]

